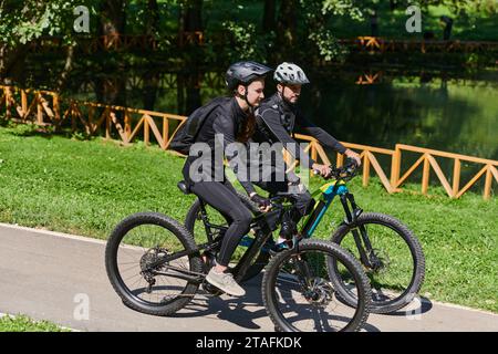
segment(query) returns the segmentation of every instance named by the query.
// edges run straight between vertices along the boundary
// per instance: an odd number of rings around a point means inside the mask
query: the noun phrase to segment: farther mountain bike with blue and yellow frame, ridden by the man
[[[299,233],[304,238],[311,238],[323,221],[332,201],[338,197],[344,210],[344,220],[332,232],[330,240],[345,248],[362,263],[372,287],[371,311],[391,313],[411,303],[419,291],[425,278],[425,257],[421,242],[403,222],[390,215],[363,212],[359,207],[346,186],[356,175],[356,167],[352,159],[346,159],[342,167],[331,166],[332,173],[325,179],[333,181],[312,192],[314,208],[307,218],[303,218]],[[257,210],[247,196],[239,194],[239,197],[253,212]],[[291,198],[288,199],[292,202]],[[197,238],[204,235],[205,228],[211,226],[209,220],[216,220],[216,225],[228,223],[216,209],[203,206],[197,199],[187,214],[185,226]],[[240,246],[250,244],[253,235],[247,235]],[[269,262],[272,241],[269,239],[263,246],[243,280],[256,277]],[[334,264],[333,260],[330,260],[329,269],[339,296],[354,306],[356,294],[349,284],[347,272]]]

